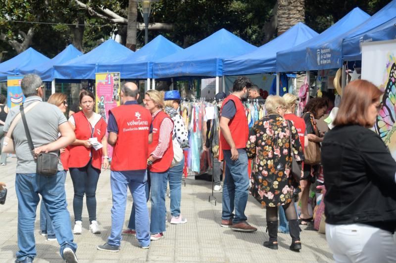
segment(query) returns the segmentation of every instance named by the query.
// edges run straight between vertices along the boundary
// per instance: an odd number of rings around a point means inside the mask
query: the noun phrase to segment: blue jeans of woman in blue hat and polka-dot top
[[[172,217],[180,216],[180,201],[182,199],[182,176],[184,169],[184,156],[180,163],[168,170],[168,176],[165,177],[165,194],[166,186],[169,180],[170,189],[170,213]],[[166,207],[165,207],[166,208]],[[165,209],[166,215],[166,209]]]

